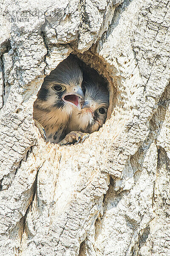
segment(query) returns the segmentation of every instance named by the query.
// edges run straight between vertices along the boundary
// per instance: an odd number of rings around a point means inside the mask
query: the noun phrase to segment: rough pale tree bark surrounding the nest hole
[[[83,145],[32,119],[70,53],[108,79]],[[170,2],[0,0],[0,254],[170,255]]]

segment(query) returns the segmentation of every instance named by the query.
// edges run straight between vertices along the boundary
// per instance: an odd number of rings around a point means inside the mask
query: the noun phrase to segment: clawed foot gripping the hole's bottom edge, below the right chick
[[[81,132],[81,131],[71,131],[58,144],[60,146],[62,146],[62,145],[72,143],[74,140],[76,140],[75,144],[78,144],[79,142],[83,143],[85,141],[85,139],[87,139],[89,137],[89,135],[90,134],[84,133],[84,132]]]

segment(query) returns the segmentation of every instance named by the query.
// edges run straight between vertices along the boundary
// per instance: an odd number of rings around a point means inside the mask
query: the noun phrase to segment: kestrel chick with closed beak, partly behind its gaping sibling
[[[109,93],[107,88],[92,80],[82,82],[85,92],[82,109],[74,109],[66,137],[59,143],[65,145],[77,140],[82,142],[90,133],[98,131],[107,117],[109,107]]]

